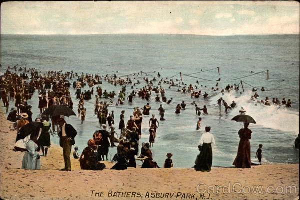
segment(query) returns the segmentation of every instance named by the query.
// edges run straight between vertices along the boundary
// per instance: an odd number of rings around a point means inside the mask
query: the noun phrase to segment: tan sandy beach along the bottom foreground
[[[62,148],[53,144],[48,156],[40,158],[41,170],[20,169],[24,153],[12,151],[16,132],[9,130],[11,124],[1,111],[1,198],[5,200],[299,198],[298,164],[269,164],[250,169],[213,167],[210,172],[196,172],[192,168],[92,171],[81,170],[78,160],[72,158],[72,171],[64,172],[59,170],[64,166]],[[255,192],[253,187],[257,185],[264,192]]]

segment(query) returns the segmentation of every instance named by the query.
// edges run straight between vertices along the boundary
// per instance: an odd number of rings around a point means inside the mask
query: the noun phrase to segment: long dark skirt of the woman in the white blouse
[[[203,143],[200,154],[195,161],[195,170],[209,172],[212,165],[212,148],[211,143]]]

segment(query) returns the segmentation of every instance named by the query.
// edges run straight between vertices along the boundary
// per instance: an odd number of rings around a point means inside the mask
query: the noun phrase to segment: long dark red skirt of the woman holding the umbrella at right
[[[251,167],[251,145],[249,139],[240,139],[237,156],[233,162],[237,168]]]

